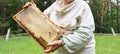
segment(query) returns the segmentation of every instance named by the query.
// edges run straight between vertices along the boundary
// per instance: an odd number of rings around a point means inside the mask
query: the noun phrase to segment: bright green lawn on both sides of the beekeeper
[[[95,34],[95,39],[96,54],[120,54],[120,34]],[[0,37],[0,54],[43,54],[43,50],[30,36],[11,35],[7,42]]]

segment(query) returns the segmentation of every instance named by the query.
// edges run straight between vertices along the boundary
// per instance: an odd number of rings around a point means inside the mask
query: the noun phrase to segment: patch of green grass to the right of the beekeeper
[[[120,35],[96,34],[96,54],[120,54]]]

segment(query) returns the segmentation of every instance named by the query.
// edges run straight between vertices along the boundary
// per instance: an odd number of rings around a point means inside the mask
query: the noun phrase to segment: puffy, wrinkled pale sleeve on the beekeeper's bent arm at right
[[[78,29],[74,30],[73,33],[63,34],[63,38],[61,38],[63,47],[69,53],[74,53],[86,46],[93,36],[94,20],[87,3],[82,13]]]

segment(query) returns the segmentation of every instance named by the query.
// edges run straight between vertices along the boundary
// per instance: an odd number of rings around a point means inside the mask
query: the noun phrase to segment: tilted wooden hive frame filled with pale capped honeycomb
[[[62,29],[32,4],[20,10],[13,19],[44,49],[48,47],[48,43],[59,39],[62,34]]]

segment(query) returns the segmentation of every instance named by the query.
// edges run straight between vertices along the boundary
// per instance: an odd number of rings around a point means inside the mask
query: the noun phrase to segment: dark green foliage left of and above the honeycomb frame
[[[21,10],[22,6],[29,1],[30,0],[0,0],[0,4],[4,4],[0,5],[0,28],[4,28],[4,30],[7,30],[7,28],[11,28],[13,33],[24,32],[24,30],[12,19],[12,16],[16,14],[19,10]],[[34,1],[42,11],[50,6],[53,2],[53,0]]]

